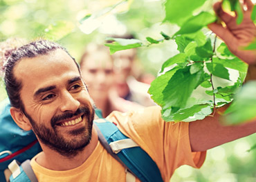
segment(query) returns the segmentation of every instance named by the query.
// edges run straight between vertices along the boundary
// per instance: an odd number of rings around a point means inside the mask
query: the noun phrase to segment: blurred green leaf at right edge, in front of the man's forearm
[[[256,81],[248,81],[235,95],[235,100],[224,112],[224,122],[238,124],[256,117]]]

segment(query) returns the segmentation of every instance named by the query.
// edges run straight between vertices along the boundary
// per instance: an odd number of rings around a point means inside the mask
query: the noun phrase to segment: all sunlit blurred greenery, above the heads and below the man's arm
[[[104,43],[113,34],[134,34],[136,39],[161,38],[160,32],[173,34],[177,27],[161,23],[165,17],[160,0],[0,0],[0,41],[10,37],[27,40],[51,39],[64,45],[80,60],[90,42]],[[210,8],[212,1],[205,3]],[[138,48],[137,66],[156,76],[161,65],[176,54],[176,44],[165,41]],[[0,101],[6,98],[0,81]],[[256,136],[248,136],[208,151],[200,170],[183,166],[172,177],[176,181],[250,182],[256,181]]]

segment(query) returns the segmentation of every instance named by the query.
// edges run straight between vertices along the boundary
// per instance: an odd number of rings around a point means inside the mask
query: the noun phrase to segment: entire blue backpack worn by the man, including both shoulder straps
[[[100,110],[95,112],[102,118]],[[135,180],[134,176],[140,181],[163,181],[151,157],[132,139],[122,134],[114,123],[105,119],[98,119],[93,123],[100,143],[127,170],[127,181]],[[0,181],[6,181],[4,173],[9,168],[12,172],[10,181],[37,182],[27,159],[33,158],[42,148],[32,131],[21,130],[12,120],[8,99],[0,103],[0,128]]]

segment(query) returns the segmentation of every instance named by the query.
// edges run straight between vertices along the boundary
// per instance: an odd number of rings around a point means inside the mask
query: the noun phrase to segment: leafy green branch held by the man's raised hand
[[[248,65],[235,57],[216,36],[201,30],[217,20],[212,12],[201,9],[203,3],[205,0],[166,1],[164,22],[180,26],[172,36],[161,32],[163,39],[147,37],[144,43],[138,39],[110,38],[113,43],[106,44],[113,54],[118,50],[149,46],[165,40],[176,42],[179,54],[163,63],[159,76],[149,88],[152,99],[162,107],[165,121],[190,122],[214,115],[217,108],[234,100],[246,76]],[[223,3],[230,10],[239,11],[238,0],[225,0]],[[238,12],[237,23],[241,23],[242,19],[242,14]],[[247,49],[255,49],[255,43]],[[235,108],[231,107],[227,113],[237,112]]]

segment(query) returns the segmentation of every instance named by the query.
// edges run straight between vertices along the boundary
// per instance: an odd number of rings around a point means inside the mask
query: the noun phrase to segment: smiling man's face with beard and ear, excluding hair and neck
[[[23,125],[61,154],[71,156],[82,150],[91,140],[94,110],[73,59],[64,50],[55,50],[23,59],[14,74],[19,75],[20,97],[26,105]],[[10,112],[23,122],[19,110]]]

